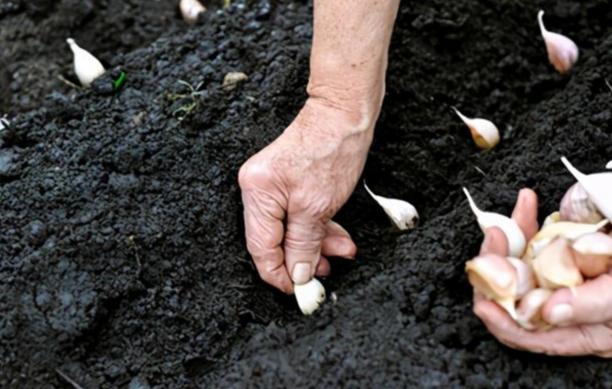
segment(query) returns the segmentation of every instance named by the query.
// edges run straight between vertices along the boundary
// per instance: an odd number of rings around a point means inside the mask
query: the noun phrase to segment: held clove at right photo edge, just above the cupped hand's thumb
[[[612,259],[612,237],[603,232],[583,235],[572,244],[576,265],[586,277],[608,272]]]

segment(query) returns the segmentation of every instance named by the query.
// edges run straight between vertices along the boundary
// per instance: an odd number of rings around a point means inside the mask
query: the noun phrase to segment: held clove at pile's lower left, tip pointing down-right
[[[483,255],[467,261],[465,271],[470,284],[516,319],[514,302],[518,286],[515,268],[503,257]]]

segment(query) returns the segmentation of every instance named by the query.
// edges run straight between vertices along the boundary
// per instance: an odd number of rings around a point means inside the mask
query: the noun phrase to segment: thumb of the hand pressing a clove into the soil
[[[287,217],[285,265],[294,284],[305,284],[315,274],[321,256],[325,223],[309,216]]]

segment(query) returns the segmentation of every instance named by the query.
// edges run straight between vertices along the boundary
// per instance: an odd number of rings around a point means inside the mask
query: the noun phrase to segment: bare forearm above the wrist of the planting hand
[[[399,0],[315,0],[311,99],[346,110],[372,127],[384,95],[398,6]]]

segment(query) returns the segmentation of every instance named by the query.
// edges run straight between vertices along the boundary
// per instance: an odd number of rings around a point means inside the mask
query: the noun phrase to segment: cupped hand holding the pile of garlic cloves
[[[537,196],[530,189],[519,193],[512,218],[527,240],[537,232]],[[508,242],[497,228],[486,231],[481,254],[508,255]],[[576,288],[557,290],[542,308],[545,321],[556,327],[547,331],[527,331],[496,303],[474,295],[474,313],[503,344],[548,355],[612,356],[612,276],[601,275]]]

